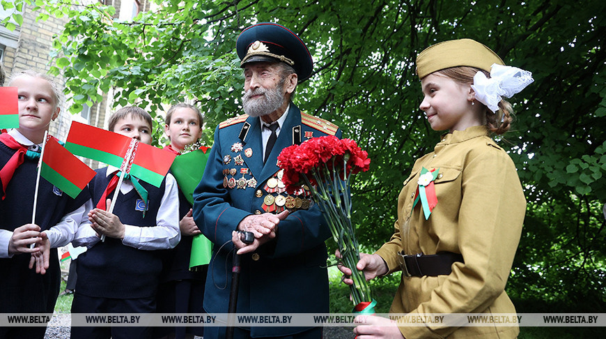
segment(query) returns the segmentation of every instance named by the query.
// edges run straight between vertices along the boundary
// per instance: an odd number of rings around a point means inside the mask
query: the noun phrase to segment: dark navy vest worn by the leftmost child
[[[6,165],[14,153],[14,149],[0,142],[0,167]],[[13,231],[31,223],[37,164],[37,160],[25,158],[15,170],[6,187],[6,198],[0,199],[0,229]],[[52,183],[40,178],[36,225],[42,230],[49,229],[59,223],[66,213],[84,204],[88,197],[86,189],[72,199]],[[57,250],[50,250],[49,269],[44,275],[28,268],[30,257],[29,254],[21,254],[0,259],[0,313],[53,311],[61,278]]]

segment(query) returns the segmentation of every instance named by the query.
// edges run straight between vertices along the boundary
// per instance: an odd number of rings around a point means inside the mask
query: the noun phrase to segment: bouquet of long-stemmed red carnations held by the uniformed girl
[[[282,181],[288,193],[300,194],[303,186],[307,186],[313,200],[323,212],[343,256],[343,264],[352,269],[354,285],[350,288],[356,305],[354,310],[373,312],[371,309],[375,301],[371,289],[364,273],[355,269],[360,257],[351,223],[349,194],[352,174],[368,170],[371,163],[368,153],[350,139],[314,137],[300,145],[283,149],[278,162],[284,170]]]

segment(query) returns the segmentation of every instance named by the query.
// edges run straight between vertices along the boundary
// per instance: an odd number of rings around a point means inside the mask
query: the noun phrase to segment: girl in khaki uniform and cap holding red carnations
[[[449,133],[419,158],[398,197],[391,240],[357,269],[366,279],[402,270],[389,312],[515,316],[504,291],[518,248],[526,199],[511,158],[489,134],[510,128],[511,97],[533,80],[470,39],[419,54],[421,110],[433,130]],[[350,269],[341,267],[345,283]],[[515,338],[518,326],[394,326],[365,317],[357,338]],[[362,318],[357,318],[362,321]],[[427,319],[419,317],[417,319]],[[463,317],[463,319],[466,319]]]

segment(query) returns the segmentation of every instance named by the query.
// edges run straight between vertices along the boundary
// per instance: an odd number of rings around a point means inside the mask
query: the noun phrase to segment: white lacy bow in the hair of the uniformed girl
[[[490,68],[490,78],[483,72],[474,75],[472,89],[476,92],[476,100],[496,113],[502,96],[511,98],[513,94],[519,93],[533,81],[532,73],[527,70],[493,63]]]

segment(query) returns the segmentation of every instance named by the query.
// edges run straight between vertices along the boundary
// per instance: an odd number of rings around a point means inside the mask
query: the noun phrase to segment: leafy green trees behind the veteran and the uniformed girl
[[[110,88],[117,105],[153,112],[195,99],[209,145],[217,123],[241,113],[238,33],[267,21],[295,31],[316,61],[295,103],[337,123],[372,159],[352,190],[366,251],[389,239],[401,184],[440,134],[418,108],[415,57],[442,40],[481,41],[535,79],[512,100],[518,119],[499,140],[528,200],[508,293],[531,301],[520,303],[527,312],[605,311],[606,1],[171,0],[132,22],[101,5],[32,6],[42,19],[70,17],[54,72],[68,78],[72,112]]]

